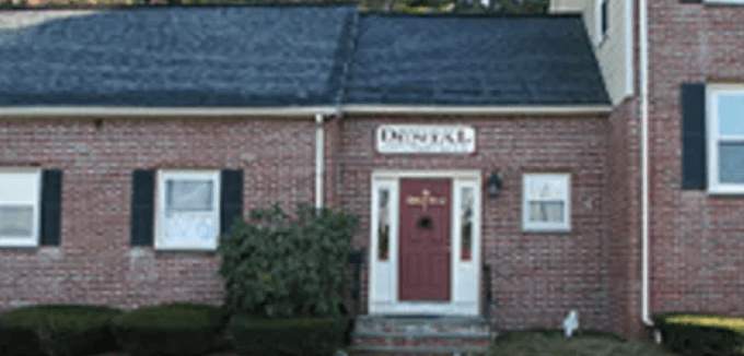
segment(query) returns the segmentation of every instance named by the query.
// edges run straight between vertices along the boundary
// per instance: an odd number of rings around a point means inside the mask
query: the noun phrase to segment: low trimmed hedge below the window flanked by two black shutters
[[[221,342],[225,313],[200,304],[143,307],[114,320],[114,332],[129,356],[204,355]]]

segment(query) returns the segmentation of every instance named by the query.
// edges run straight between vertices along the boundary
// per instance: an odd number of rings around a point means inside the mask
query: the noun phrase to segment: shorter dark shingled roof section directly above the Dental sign
[[[363,15],[345,102],[608,104],[579,16]]]

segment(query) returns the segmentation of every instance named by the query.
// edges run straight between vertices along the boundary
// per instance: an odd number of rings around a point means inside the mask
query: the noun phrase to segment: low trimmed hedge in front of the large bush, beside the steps
[[[235,315],[229,330],[241,355],[325,356],[344,345],[349,318],[265,319]]]

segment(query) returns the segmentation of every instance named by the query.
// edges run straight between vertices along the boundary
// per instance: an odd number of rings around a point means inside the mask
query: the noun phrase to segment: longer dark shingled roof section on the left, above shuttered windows
[[[50,21],[1,37],[0,106],[328,104],[354,15],[350,5],[146,8]]]

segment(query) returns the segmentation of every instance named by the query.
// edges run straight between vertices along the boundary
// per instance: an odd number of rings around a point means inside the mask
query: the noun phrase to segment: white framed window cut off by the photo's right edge
[[[744,85],[706,86],[708,192],[744,194]]]

